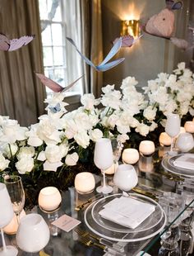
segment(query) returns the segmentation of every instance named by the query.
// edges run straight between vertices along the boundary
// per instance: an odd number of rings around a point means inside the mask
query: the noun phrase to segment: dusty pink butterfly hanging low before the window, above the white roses
[[[70,83],[67,87],[63,88],[60,84],[54,82],[52,79],[47,78],[44,76],[43,73],[36,73],[37,77],[40,79],[40,81],[47,86],[49,89],[51,89],[53,92],[66,92],[68,89],[72,88],[72,86],[81,78],[83,78],[84,75],[82,75],[80,78],[77,78],[76,81]]]

